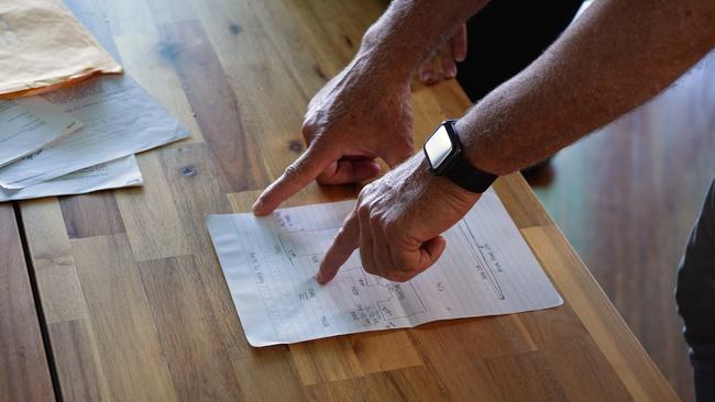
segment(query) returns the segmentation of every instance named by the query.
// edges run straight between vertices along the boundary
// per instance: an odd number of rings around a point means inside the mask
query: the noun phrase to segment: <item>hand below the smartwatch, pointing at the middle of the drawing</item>
[[[360,192],[316,279],[330,281],[360,246],[367,272],[394,281],[409,280],[437,261],[447,245],[440,234],[462,219],[479,198],[433,176],[424,154],[418,153]]]

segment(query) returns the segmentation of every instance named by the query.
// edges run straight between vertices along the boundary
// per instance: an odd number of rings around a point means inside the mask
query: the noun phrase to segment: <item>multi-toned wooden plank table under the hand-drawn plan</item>
[[[69,1],[193,138],[141,155],[141,189],[19,204],[62,399],[676,400],[518,174],[495,187],[562,306],[249,346],[204,217],[246,210],[300,154],[308,100],[385,3],[99,3]],[[420,144],[470,102],[449,82],[414,104]],[[311,186],[288,204],[354,194]]]

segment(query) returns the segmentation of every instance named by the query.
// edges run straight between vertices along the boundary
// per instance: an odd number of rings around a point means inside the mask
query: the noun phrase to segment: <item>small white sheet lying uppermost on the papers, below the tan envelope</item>
[[[0,100],[0,166],[28,156],[82,124],[42,98]]]

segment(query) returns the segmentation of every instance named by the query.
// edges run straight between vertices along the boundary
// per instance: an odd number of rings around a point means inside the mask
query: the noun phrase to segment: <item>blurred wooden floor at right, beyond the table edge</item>
[[[691,372],[673,289],[715,177],[714,77],[710,55],[658,99],[559,153],[552,181],[537,188],[684,401]]]

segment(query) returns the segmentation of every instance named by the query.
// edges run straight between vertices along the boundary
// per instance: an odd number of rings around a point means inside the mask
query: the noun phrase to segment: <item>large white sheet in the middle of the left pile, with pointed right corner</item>
[[[0,169],[0,187],[21,189],[141,153],[189,133],[131,77],[103,77],[42,96],[85,127]]]

